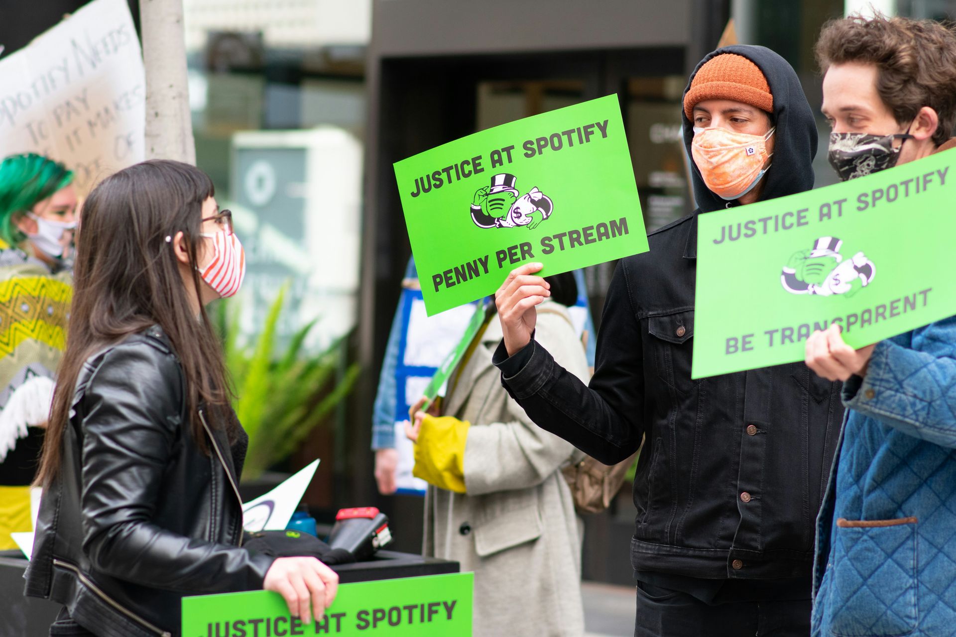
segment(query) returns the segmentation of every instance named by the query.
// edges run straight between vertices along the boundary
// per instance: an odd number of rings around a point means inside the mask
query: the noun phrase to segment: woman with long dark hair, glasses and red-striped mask
[[[257,588],[309,623],[335,597],[314,558],[241,547],[248,436],[205,305],[239,289],[245,260],[213,194],[157,160],[84,204],[27,571],[27,595],[65,606],[52,635],[179,634],[184,596]]]

